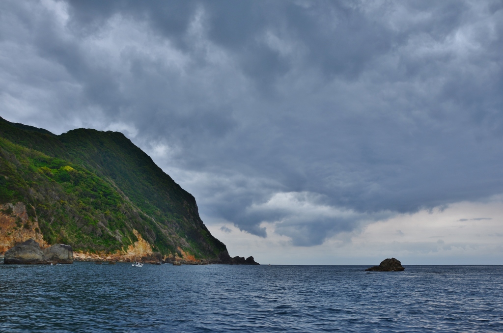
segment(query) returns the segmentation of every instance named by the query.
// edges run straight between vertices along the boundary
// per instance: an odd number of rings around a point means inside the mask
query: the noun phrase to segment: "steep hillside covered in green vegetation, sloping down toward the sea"
[[[136,241],[136,229],[164,256],[226,251],[194,197],[122,133],[54,135],[0,118],[0,157],[0,204],[25,203],[50,244],[112,253]]]

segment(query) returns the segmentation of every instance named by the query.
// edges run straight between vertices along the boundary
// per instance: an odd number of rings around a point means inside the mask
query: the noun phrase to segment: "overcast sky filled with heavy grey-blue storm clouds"
[[[500,1],[0,2],[0,116],[124,133],[261,264],[503,264]]]

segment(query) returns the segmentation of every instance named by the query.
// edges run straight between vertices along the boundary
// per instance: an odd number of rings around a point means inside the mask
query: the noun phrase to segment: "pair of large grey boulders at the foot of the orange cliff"
[[[10,248],[5,253],[4,264],[72,264],[73,251],[70,245],[54,244],[41,249],[34,239],[28,239]]]

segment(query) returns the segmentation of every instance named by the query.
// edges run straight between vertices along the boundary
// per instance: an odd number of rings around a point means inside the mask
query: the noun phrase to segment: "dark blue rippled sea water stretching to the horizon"
[[[503,331],[503,266],[365,268],[0,265],[0,331]]]

